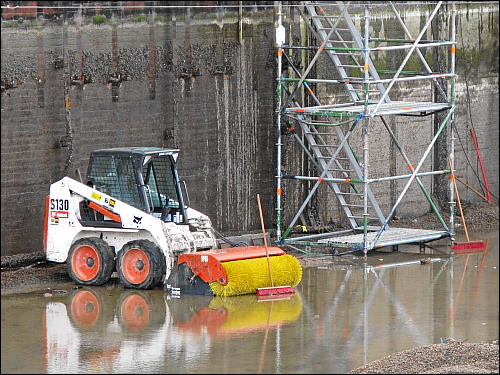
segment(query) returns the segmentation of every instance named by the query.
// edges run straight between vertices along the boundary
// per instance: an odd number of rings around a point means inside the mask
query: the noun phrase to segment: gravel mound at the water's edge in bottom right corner
[[[448,341],[393,353],[349,374],[498,374],[498,344]]]

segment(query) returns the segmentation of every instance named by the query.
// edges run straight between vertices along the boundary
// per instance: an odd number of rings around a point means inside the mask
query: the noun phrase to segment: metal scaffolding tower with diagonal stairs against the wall
[[[326,246],[335,249],[362,250],[365,255],[369,250],[399,244],[425,244],[454,234],[453,216],[455,199],[453,181],[449,181],[450,219],[446,223],[431,194],[422,182],[423,178],[435,175],[450,174],[454,168],[454,136],[453,131],[443,132],[446,127],[452,128],[455,115],[455,4],[451,4],[448,37],[450,40],[429,40],[426,35],[431,22],[443,9],[443,2],[429,3],[433,9],[421,28],[413,35],[405,25],[398,8],[402,4],[380,2],[301,2],[296,8],[305,25],[307,25],[313,43],[309,45],[292,45],[286,43],[283,27],[283,9],[278,5],[278,22],[276,29],[277,45],[277,189],[276,189],[276,231],[279,245],[292,248],[297,245]],[[411,3],[405,3],[406,6]],[[374,7],[387,7],[400,27],[401,38],[370,37],[370,12]],[[357,12],[356,19],[353,12]],[[445,48],[448,56],[447,71],[433,71],[425,58],[426,51],[433,48]],[[308,51],[310,59],[307,64],[297,64],[292,53]],[[390,54],[398,51],[399,67],[395,70],[377,69],[373,62],[374,53]],[[321,59],[320,59],[321,57]],[[417,59],[419,70],[405,70],[409,59]],[[413,61],[414,61],[413,60]],[[315,72],[321,70],[316,65],[326,61],[331,72],[330,77],[318,78]],[[283,69],[283,66],[286,69]],[[304,66],[300,66],[304,65]],[[306,66],[307,65],[307,66]],[[395,98],[392,90],[402,82],[433,82],[429,85],[439,93],[432,101],[405,100]],[[449,85],[443,89],[444,85]],[[323,102],[318,94],[330,88],[343,87],[345,95],[338,102],[326,98]],[[313,90],[313,88],[315,88]],[[432,95],[431,95],[432,97]],[[345,99],[343,99],[345,98]],[[312,104],[312,105],[311,105]],[[432,140],[423,150],[418,160],[411,161],[405,152],[402,142],[389,126],[388,118],[402,116],[429,116],[441,112],[444,119],[436,127]],[[377,147],[370,141],[370,131],[374,121],[381,121],[391,142],[398,150],[400,157],[408,167],[407,174],[394,174],[383,177],[371,177],[370,152]],[[286,124],[287,126],[284,126]],[[291,125],[290,125],[291,124]],[[359,132],[361,134],[359,134]],[[361,141],[357,145],[350,142],[356,133]],[[431,153],[437,140],[443,133],[450,134],[448,147],[448,168],[424,171],[426,158]],[[317,175],[286,174],[282,168],[283,137],[292,135],[300,150],[307,156],[310,165],[314,166]],[[358,152],[356,152],[356,146]],[[428,167],[428,166],[426,166]],[[305,173],[303,173],[305,174]],[[377,194],[372,186],[387,181],[404,181],[404,187],[391,207],[383,212],[377,202]],[[309,191],[303,203],[297,208],[290,222],[283,218],[282,202],[285,193],[283,184],[291,181],[308,181]],[[317,194],[320,184],[326,184],[328,197],[336,199],[350,228],[340,231],[298,235],[294,231],[304,210]],[[389,225],[398,206],[408,193],[411,185],[417,184],[419,191],[429,203],[442,225],[442,230],[394,228]],[[294,194],[298,189],[287,185],[287,194]],[[327,198],[330,199],[330,198]],[[380,199],[379,199],[380,201]],[[326,202],[325,202],[326,203]],[[346,250],[349,251],[349,250]]]

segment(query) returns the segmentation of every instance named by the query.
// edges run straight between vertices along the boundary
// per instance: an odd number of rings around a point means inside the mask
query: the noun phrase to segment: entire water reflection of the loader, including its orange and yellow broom
[[[161,372],[208,354],[212,340],[277,329],[302,312],[300,295],[171,298],[158,291],[80,288],[45,307],[47,373]]]

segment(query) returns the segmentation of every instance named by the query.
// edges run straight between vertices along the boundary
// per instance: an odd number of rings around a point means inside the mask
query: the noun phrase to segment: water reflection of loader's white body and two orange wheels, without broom
[[[73,291],[66,303],[50,302],[45,308],[46,364],[48,373],[114,372],[129,369],[130,361],[148,367],[168,344],[165,305],[148,294],[113,295],[98,288]],[[114,308],[113,308],[114,307]],[[146,337],[140,335],[154,327]],[[128,334],[131,333],[131,339]],[[139,350],[140,349],[140,350]]]

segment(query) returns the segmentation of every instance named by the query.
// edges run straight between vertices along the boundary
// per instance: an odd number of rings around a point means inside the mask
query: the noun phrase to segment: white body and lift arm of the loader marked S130
[[[82,224],[80,203],[93,202],[114,227]],[[215,249],[217,240],[208,216],[187,207],[187,224],[164,222],[110,195],[69,177],[53,183],[46,213],[47,260],[66,262],[71,245],[81,238],[98,237],[117,254],[132,240],[147,239],[155,243],[166,260],[165,279],[170,275],[176,256],[181,252]],[[195,229],[194,231],[190,227]]]

